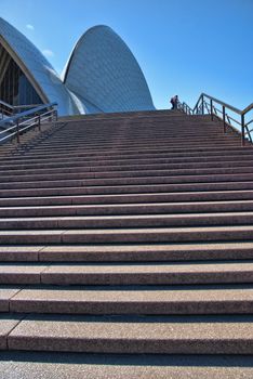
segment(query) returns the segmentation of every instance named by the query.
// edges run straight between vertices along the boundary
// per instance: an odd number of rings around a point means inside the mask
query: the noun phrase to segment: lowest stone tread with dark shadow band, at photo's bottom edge
[[[55,352],[0,353],[4,378],[16,379],[239,379],[253,376],[250,355],[80,354]]]

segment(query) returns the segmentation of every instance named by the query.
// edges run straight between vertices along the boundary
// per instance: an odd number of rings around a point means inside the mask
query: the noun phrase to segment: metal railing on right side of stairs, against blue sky
[[[229,104],[222,102],[213,96],[205,93],[201,93],[196,103],[194,109],[191,109],[186,103],[179,103],[178,109],[188,115],[210,115],[211,119],[214,118],[223,122],[224,133],[227,132],[227,128],[230,127],[241,133],[241,144],[244,146],[245,140],[248,139],[251,143],[253,142],[251,132],[253,129],[249,129],[250,125],[253,123],[253,112],[250,117],[250,112],[253,109],[253,103],[250,104],[243,110],[236,108]]]

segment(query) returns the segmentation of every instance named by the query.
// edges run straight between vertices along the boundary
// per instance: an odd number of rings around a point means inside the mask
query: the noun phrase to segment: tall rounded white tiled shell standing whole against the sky
[[[64,81],[84,103],[101,112],[154,110],[137,61],[108,26],[89,29],[77,42]]]

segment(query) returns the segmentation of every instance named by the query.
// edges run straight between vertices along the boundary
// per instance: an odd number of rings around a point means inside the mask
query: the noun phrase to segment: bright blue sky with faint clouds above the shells
[[[74,44],[110,26],[144,71],[155,106],[194,106],[201,92],[244,108],[253,102],[253,0],[0,0],[0,16],[61,74]]]

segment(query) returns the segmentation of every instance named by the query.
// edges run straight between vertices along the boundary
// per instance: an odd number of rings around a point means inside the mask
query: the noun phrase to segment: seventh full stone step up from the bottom
[[[217,212],[248,212],[253,211],[253,200],[228,201],[191,201],[191,202],[144,202],[144,204],[105,204],[105,205],[79,205],[75,198],[74,205],[30,206],[30,207],[3,207],[0,208],[0,218],[30,218],[30,217],[57,217],[57,215],[123,215],[123,214],[167,214],[199,213],[209,214]],[[136,199],[135,199],[136,200]],[[10,201],[11,202],[11,201]],[[24,204],[19,199],[19,204]],[[53,200],[52,200],[53,202]],[[70,198],[70,202],[72,202]],[[1,205],[1,201],[0,201]],[[197,214],[198,215],[198,214]],[[239,214],[236,213],[238,220]],[[212,218],[212,215],[211,215]],[[79,219],[78,219],[79,220]],[[245,218],[245,221],[248,219]],[[0,227],[4,220],[0,219]],[[24,219],[21,220],[24,222]],[[27,220],[29,221],[29,220]],[[36,219],[36,221],[39,221]],[[45,220],[43,220],[44,222]],[[236,221],[239,222],[239,221]]]

